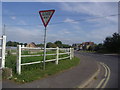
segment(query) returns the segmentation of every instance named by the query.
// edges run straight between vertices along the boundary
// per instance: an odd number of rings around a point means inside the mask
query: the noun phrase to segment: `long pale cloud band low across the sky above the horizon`
[[[55,42],[61,40],[66,44],[81,43],[84,41],[93,41],[95,43],[102,42],[106,36],[112,35],[117,32],[115,25],[85,30],[79,25],[74,25],[72,28],[57,29],[57,26],[49,27],[47,31],[47,42]],[[7,41],[19,41],[19,42],[35,42],[43,43],[44,30],[43,27],[29,29],[23,27],[14,27],[6,29]]]

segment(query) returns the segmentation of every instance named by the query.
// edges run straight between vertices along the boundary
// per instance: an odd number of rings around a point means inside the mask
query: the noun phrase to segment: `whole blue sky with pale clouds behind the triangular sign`
[[[117,2],[3,2],[7,41],[43,43],[39,11],[49,9],[55,13],[47,26],[47,42],[102,43],[118,32]]]

